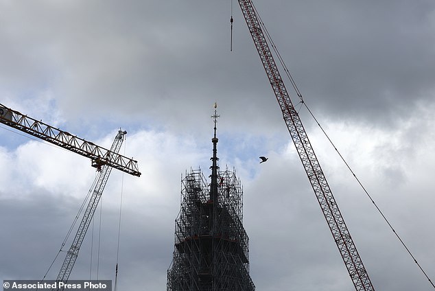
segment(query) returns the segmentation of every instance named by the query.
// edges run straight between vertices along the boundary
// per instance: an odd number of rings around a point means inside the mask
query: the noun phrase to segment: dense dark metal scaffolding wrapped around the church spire
[[[182,178],[167,291],[255,290],[249,275],[249,240],[242,224],[242,185],[235,170],[220,171],[215,163],[211,168],[211,183],[200,169]],[[217,193],[216,200],[212,193]]]

